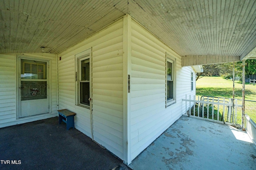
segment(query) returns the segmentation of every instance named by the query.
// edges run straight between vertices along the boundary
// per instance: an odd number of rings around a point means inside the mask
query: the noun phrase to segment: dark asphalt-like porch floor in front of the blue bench
[[[129,170],[58,117],[0,128],[0,170]]]

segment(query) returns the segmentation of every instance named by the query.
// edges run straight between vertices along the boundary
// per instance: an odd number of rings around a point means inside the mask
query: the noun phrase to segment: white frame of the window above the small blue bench
[[[81,81],[81,61],[89,59],[90,61],[90,79],[89,81]],[[87,49],[85,51],[82,51],[81,53],[78,53],[75,55],[75,60],[76,60],[76,72],[75,72],[75,82],[76,82],[76,105],[77,106],[82,106],[82,107],[86,107],[88,109],[90,109],[91,106],[91,101],[89,102],[89,105],[86,104],[82,104],[80,102],[80,82],[89,82],[89,86],[90,86],[90,94],[89,94],[89,98],[92,98],[92,53],[91,53],[91,49]],[[88,99],[89,100],[89,99]]]

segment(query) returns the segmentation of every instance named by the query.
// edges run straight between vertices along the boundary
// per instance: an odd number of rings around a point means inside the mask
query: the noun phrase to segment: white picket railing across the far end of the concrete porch
[[[189,98],[186,96],[186,99],[182,99],[182,101],[185,101],[186,114],[224,124],[235,123],[237,107],[242,107],[237,104],[237,99],[234,100],[233,108],[232,99],[219,97],[202,97],[200,100],[198,96],[198,100],[196,100],[195,96],[189,96]]]

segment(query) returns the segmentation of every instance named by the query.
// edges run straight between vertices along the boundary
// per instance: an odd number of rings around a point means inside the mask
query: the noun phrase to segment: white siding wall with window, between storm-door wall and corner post
[[[75,98],[75,55],[90,48],[92,49],[92,113],[88,108],[77,106]],[[58,54],[59,57],[61,57],[58,61],[59,109],[74,111],[76,129],[122,159],[123,19],[63,51]]]

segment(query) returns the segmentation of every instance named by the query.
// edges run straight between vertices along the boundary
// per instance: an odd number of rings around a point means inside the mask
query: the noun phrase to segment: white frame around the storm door
[[[32,116],[27,116],[27,117],[21,117],[21,100],[20,100],[20,82],[21,82],[21,60],[34,60],[34,61],[42,61],[46,62],[46,76],[47,76],[47,103],[48,103],[48,113],[43,113],[43,114],[38,114],[38,115],[32,115]],[[16,55],[16,119],[26,119],[28,117],[36,117],[40,115],[45,115],[51,113],[51,67],[50,67],[50,59],[46,58],[40,58],[40,57],[34,57],[34,56],[21,56],[21,55]]]

